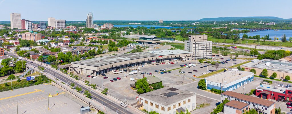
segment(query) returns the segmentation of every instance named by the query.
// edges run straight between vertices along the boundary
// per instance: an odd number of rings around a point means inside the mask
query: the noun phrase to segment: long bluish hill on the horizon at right
[[[217,17],[217,18],[203,18],[198,21],[251,21],[251,20],[263,20],[263,21],[272,21],[272,20],[278,20],[278,21],[292,21],[292,19],[283,19],[279,17]]]

